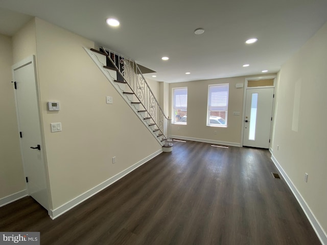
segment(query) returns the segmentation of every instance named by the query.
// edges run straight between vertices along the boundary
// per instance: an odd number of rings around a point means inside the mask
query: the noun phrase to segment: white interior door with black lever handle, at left
[[[28,178],[28,192],[33,199],[49,210],[45,167],[42,159],[35,57],[31,56],[13,65],[12,72],[16,82],[17,117],[21,132],[20,145],[25,175]]]

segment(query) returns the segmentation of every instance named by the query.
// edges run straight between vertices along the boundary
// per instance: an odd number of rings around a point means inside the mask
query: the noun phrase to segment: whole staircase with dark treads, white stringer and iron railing
[[[84,50],[162,146],[162,151],[171,152],[171,119],[162,111],[136,62],[106,48]]]

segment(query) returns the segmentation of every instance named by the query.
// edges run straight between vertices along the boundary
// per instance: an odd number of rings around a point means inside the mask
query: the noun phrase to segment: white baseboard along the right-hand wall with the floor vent
[[[271,155],[271,160],[273,161],[275,166],[278,168],[279,172],[282,174],[284,180],[286,181],[287,185],[290,187],[291,191],[293,192],[293,194],[294,194],[297,202],[301,206],[303,212],[305,212],[305,214],[307,215],[307,218],[309,219],[311,226],[315,230],[320,242],[323,245],[327,245],[327,234],[321,228],[318,220],[316,219],[315,215],[312,213],[310,207],[308,206],[306,201],[302,198],[302,195],[300,194],[300,192],[298,192],[298,190],[296,189],[296,187],[293,184],[293,182],[291,181],[291,179],[288,177],[288,175],[285,173],[282,166],[278,163],[278,161],[276,160],[276,158],[273,155]]]

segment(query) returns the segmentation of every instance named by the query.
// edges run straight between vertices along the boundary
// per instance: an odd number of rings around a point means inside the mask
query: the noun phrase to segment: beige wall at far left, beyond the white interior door
[[[11,75],[11,38],[0,34],[0,199],[26,189]]]

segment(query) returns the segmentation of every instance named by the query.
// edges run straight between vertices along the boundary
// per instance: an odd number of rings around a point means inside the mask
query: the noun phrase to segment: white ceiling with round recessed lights
[[[13,35],[33,16],[156,71],[146,77],[173,83],[277,72],[327,21],[327,1],[0,0],[0,33]],[[108,17],[120,27],[107,26]],[[195,35],[197,28],[204,33]],[[258,42],[245,44],[251,37]]]

